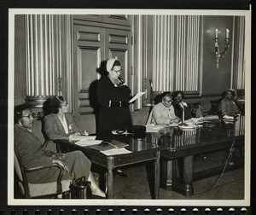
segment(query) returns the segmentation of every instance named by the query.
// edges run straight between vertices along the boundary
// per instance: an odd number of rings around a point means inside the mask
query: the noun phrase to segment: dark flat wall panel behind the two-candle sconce
[[[219,61],[216,67],[214,50],[215,29],[218,29],[220,50],[224,49],[224,38],[226,29],[230,30],[230,49],[224,59]],[[203,27],[203,76],[202,96],[218,95],[224,89],[230,88],[231,77],[231,50],[232,50],[232,16],[205,16]]]

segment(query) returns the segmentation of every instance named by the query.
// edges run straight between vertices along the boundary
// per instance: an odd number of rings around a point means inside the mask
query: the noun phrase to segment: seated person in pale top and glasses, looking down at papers
[[[172,123],[179,123],[180,119],[174,113],[172,106],[172,95],[170,92],[162,94],[162,101],[154,106],[152,109],[152,118],[150,124],[166,125]]]

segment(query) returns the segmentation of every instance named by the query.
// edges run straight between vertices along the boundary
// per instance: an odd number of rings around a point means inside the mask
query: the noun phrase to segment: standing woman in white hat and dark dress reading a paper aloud
[[[98,119],[100,135],[131,127],[131,90],[119,77],[122,72],[120,62],[117,58],[110,58],[106,69],[108,75],[102,77],[96,87],[97,101],[101,106]]]

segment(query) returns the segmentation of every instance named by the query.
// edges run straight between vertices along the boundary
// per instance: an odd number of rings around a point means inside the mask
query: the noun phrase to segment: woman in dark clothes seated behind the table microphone
[[[184,120],[190,119],[191,114],[190,114],[190,109],[188,107],[188,104],[186,102],[183,102],[184,99],[184,93],[183,91],[174,91],[172,93],[172,106],[174,108],[174,113],[175,115],[183,119],[183,108],[184,108]]]

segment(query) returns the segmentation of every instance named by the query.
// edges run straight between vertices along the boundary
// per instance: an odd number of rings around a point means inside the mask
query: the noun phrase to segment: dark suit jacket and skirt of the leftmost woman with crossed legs
[[[15,125],[15,147],[19,151],[21,161],[25,168],[38,166],[52,166],[52,153],[42,148],[42,142],[32,132],[21,125]],[[77,179],[90,173],[90,160],[80,151],[65,154],[63,160],[67,163],[69,172],[65,172],[62,180],[67,178]],[[55,182],[59,176],[59,170],[55,167],[41,171],[26,173],[29,183]]]

